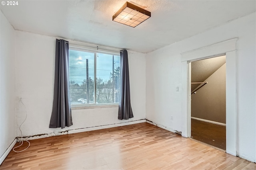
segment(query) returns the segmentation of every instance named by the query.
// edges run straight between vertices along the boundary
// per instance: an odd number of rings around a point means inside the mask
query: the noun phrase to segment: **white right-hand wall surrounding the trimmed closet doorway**
[[[256,14],[255,12],[146,54],[146,119],[182,131],[180,53],[238,37],[237,155],[256,162]],[[171,115],[173,121],[170,120]]]

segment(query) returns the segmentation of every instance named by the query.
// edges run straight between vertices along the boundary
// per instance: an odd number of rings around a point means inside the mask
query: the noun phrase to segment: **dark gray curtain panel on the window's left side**
[[[68,41],[56,39],[54,96],[50,128],[73,125],[69,96]]]

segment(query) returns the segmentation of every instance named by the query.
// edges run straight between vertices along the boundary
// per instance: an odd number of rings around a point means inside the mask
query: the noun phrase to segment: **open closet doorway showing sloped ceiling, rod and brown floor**
[[[226,55],[191,62],[191,137],[226,150]]]

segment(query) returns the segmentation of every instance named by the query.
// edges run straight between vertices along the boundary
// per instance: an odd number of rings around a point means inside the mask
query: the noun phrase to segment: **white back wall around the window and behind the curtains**
[[[17,126],[23,135],[31,136],[53,131],[66,131],[101,125],[111,125],[146,118],[146,59],[145,54],[128,51],[130,67],[131,104],[134,117],[118,120],[118,107],[72,110],[73,125],[64,129],[50,129],[54,88],[54,37],[16,31],[16,102]],[[17,130],[18,136],[20,132]]]

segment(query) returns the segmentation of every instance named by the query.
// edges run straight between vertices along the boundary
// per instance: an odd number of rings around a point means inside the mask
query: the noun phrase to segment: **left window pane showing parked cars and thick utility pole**
[[[69,85],[71,104],[94,103],[94,53],[69,50]]]

